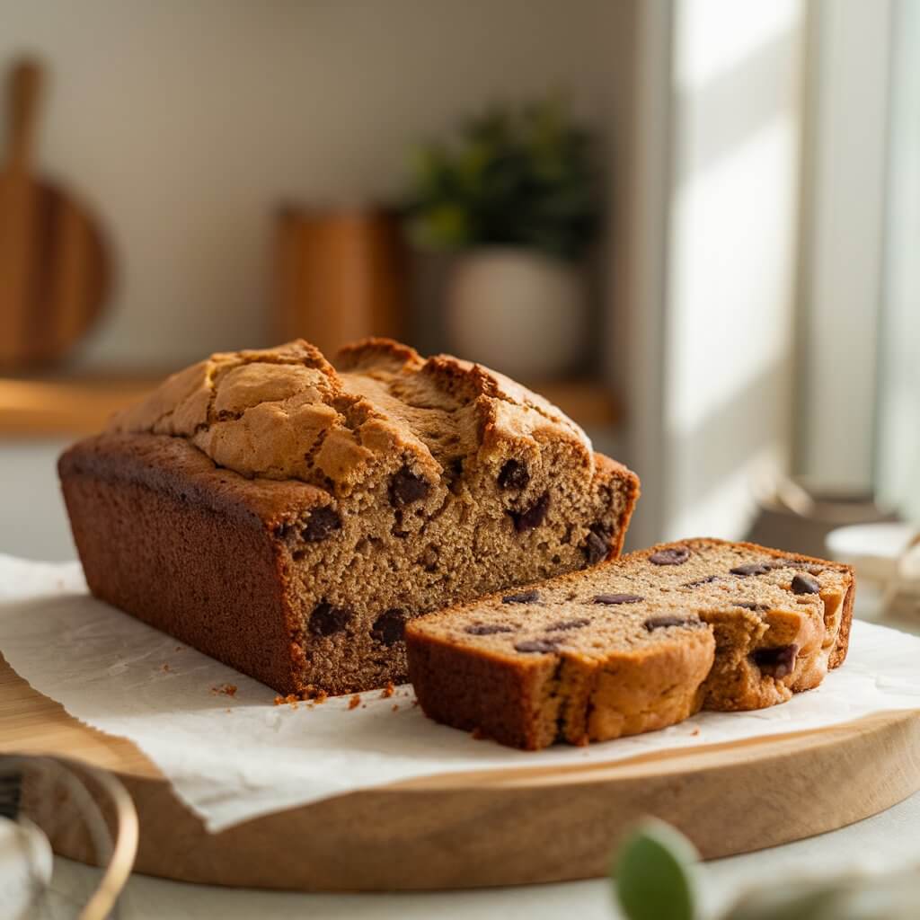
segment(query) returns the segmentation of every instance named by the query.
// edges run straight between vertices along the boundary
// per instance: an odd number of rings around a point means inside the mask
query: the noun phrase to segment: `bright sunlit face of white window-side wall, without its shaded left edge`
[[[801,29],[792,0],[677,5],[669,537],[742,535],[788,466]]]

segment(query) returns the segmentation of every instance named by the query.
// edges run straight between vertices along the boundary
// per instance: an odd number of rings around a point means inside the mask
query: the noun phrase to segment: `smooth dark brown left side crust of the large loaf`
[[[235,473],[202,476],[199,460],[211,464],[195,454],[177,439],[108,435],[63,455],[63,496],[89,589],[293,693],[293,630],[270,531],[288,509]]]

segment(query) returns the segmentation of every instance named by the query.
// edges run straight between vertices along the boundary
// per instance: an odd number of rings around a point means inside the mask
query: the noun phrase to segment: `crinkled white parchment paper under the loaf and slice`
[[[857,621],[845,666],[784,706],[701,713],[586,748],[513,751],[425,719],[408,686],[362,694],[354,708],[349,697],[276,706],[268,687],[91,598],[77,563],[2,555],[0,650],[76,719],[134,742],[212,831],[413,776],[606,763],[920,708],[920,638]]]

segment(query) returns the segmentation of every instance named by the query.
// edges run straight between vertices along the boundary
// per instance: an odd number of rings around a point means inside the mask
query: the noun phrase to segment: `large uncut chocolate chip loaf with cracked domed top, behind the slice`
[[[618,555],[638,497],[545,399],[384,339],[213,355],[59,470],[92,592],[302,695],[401,681],[412,617]]]

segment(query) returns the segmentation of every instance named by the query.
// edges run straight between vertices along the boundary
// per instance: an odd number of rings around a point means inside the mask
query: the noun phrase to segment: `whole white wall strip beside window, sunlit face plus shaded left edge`
[[[632,546],[737,539],[788,469],[802,0],[643,0],[625,289]]]

